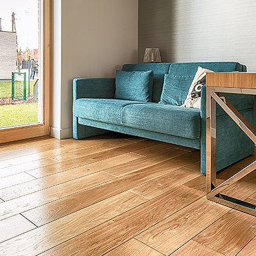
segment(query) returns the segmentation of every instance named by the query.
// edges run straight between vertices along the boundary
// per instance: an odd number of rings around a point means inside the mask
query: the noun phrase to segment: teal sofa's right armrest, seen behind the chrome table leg
[[[224,94],[231,104],[254,126],[254,96]],[[216,105],[216,170],[243,159],[254,152],[254,143],[231,118]],[[206,86],[201,92],[201,172],[206,173]]]

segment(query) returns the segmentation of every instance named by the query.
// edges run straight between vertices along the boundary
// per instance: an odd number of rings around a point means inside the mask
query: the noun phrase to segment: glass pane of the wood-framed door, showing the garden
[[[40,9],[0,0],[0,128],[40,122]]]

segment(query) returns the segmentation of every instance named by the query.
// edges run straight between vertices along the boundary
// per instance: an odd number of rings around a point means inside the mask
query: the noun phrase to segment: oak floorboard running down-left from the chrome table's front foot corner
[[[157,249],[157,251],[168,255],[208,225],[216,222],[228,211],[229,208],[202,198],[159,222],[159,224],[141,233],[136,238]]]

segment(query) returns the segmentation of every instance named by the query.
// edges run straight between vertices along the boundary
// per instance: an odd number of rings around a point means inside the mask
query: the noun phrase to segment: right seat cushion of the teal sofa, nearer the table
[[[177,105],[143,103],[126,105],[122,110],[123,125],[189,139],[200,138],[200,109]]]

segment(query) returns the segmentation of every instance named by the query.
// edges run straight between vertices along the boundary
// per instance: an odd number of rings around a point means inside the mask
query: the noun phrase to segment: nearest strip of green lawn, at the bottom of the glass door
[[[0,127],[38,122],[38,103],[0,105]]]

